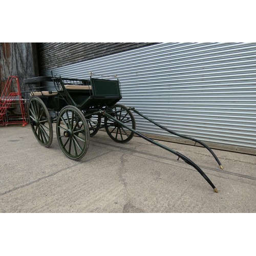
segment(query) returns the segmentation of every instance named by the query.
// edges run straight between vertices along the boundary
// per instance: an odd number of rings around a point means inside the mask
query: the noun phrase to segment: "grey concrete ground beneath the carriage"
[[[55,132],[55,131],[54,131]],[[119,144],[105,132],[86,156],[68,159],[54,133],[41,146],[30,126],[0,127],[0,212],[256,212],[256,156],[161,142],[191,166],[141,138]]]

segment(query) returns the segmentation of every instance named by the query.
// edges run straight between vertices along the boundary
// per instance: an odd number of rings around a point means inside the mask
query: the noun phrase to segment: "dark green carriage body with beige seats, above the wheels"
[[[38,83],[42,82],[48,82],[48,85],[40,86]],[[31,95],[39,96],[47,108],[54,111],[60,111],[66,105],[73,105],[84,111],[91,108],[101,109],[114,105],[122,98],[118,79],[41,76],[25,79],[25,83],[37,84],[37,87],[31,88]]]

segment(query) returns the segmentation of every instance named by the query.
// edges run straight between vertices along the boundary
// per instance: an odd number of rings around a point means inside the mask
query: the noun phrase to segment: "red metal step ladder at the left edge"
[[[13,89],[11,88],[13,84]],[[11,90],[17,89],[17,92],[11,92]],[[12,114],[13,109],[19,105],[20,114]],[[20,91],[19,80],[17,76],[9,76],[5,84],[5,88],[0,97],[0,125],[8,124],[22,124],[26,126],[26,114],[24,108],[24,99],[22,98],[22,92]]]

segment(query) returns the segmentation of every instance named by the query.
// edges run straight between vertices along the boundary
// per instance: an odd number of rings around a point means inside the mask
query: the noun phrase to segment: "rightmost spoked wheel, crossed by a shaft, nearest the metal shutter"
[[[114,119],[117,119],[118,121],[129,125],[133,130],[136,129],[135,118],[132,112],[128,110],[124,105],[114,105],[112,112],[109,114],[112,115]],[[130,141],[134,136],[134,132],[131,132],[123,125],[115,122],[114,119],[105,117],[104,126],[106,129],[106,133],[110,136],[112,140],[118,143],[125,143]]]

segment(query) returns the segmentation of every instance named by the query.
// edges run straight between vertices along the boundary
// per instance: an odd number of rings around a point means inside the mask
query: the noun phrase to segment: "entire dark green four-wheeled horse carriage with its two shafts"
[[[41,82],[53,86],[41,86]],[[189,158],[171,148],[136,131],[133,112],[176,136],[193,140],[204,146],[223,168],[217,156],[203,142],[177,134],[147,118],[134,108],[119,104],[122,98],[118,79],[91,78],[73,79],[55,77],[34,77],[25,79],[26,84],[39,84],[31,87],[28,104],[29,122],[38,142],[49,147],[53,140],[53,123],[62,152],[72,160],[80,160],[86,154],[90,137],[104,129],[109,137],[118,143],[126,143],[137,136],[169,151],[193,166],[217,193],[218,190],[202,169]],[[47,89],[47,90],[46,90]]]

